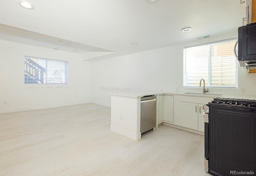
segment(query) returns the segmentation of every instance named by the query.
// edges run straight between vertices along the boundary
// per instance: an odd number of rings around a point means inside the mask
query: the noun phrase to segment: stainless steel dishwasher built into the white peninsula
[[[140,132],[156,128],[156,96],[143,96],[140,100]]]

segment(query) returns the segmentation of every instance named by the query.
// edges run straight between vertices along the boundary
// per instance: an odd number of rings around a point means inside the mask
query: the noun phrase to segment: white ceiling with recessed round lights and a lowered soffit
[[[76,52],[88,61],[237,32],[245,17],[240,0],[27,0],[34,10],[18,1],[0,0],[1,40]]]

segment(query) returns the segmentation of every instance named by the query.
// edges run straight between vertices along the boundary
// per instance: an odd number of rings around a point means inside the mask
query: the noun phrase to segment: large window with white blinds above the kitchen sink
[[[237,87],[236,40],[184,48],[183,86],[198,87],[204,78],[207,87]]]

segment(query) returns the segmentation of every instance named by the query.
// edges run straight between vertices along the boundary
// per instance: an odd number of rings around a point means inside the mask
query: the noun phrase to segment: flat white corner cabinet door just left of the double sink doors
[[[173,123],[173,96],[164,96],[164,121]]]

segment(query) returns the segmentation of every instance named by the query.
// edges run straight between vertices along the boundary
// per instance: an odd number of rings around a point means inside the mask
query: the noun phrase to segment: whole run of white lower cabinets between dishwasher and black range
[[[159,95],[158,124],[165,122],[190,131],[204,132],[203,106],[211,97]],[[188,129],[186,129],[188,128]],[[194,131],[195,132],[195,131]]]

